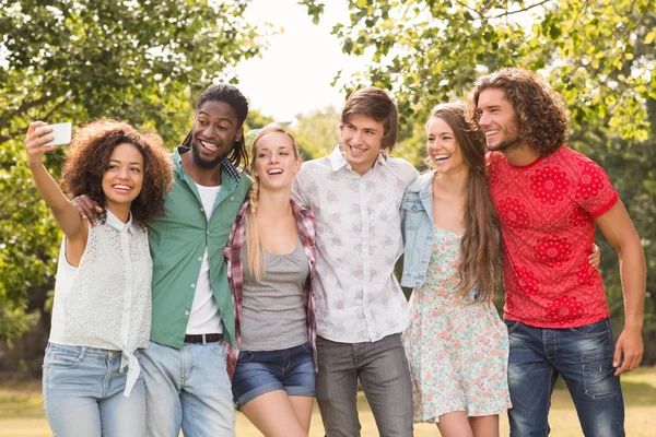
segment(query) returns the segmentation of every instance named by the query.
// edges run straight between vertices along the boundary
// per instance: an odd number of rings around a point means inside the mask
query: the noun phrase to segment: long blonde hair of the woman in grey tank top
[[[253,177],[253,185],[248,191],[248,210],[246,211],[246,264],[250,274],[253,274],[258,281],[265,275],[267,255],[265,252],[265,245],[262,244],[262,237],[256,220],[260,184],[256,167],[257,144],[259,143],[259,140],[269,133],[284,133],[288,135],[290,140],[292,140],[294,157],[296,160],[301,157],[298,153],[298,144],[296,143],[294,137],[292,137],[292,134],[284,130],[280,125],[276,123],[267,125],[265,128],[262,128],[257,135],[255,135],[253,144],[250,145],[250,164],[248,166],[248,173]]]

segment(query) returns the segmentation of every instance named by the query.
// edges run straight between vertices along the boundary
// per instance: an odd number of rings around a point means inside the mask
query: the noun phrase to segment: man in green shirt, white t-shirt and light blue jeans
[[[149,436],[178,437],[180,427],[186,437],[235,435],[225,354],[235,328],[223,248],[250,186],[238,170],[248,160],[247,115],[234,86],[200,95],[191,132],[172,157],[165,215],[149,227],[152,330],[141,354]],[[93,215],[85,199],[79,203]]]

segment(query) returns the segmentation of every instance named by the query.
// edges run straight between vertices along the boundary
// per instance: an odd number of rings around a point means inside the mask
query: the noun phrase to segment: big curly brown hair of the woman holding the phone
[[[166,193],[173,187],[171,160],[162,138],[153,131],[108,118],[79,129],[67,151],[61,188],[71,197],[86,194],[105,209],[103,174],[114,149],[124,143],[132,144],[143,156],[143,185],[130,211],[138,223],[145,225],[164,214]]]

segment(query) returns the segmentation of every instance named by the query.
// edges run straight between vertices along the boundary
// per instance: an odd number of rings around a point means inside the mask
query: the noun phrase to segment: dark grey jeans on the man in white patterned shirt
[[[360,436],[358,379],[382,437],[412,436],[412,386],[401,334],[376,342],[317,338],[317,402],[327,437]]]

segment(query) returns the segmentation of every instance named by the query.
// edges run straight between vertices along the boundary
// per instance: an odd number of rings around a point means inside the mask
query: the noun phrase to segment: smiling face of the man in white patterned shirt
[[[344,160],[359,175],[367,173],[380,154],[385,126],[371,117],[355,116],[341,127]]]

